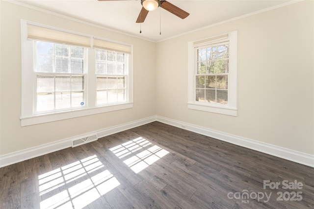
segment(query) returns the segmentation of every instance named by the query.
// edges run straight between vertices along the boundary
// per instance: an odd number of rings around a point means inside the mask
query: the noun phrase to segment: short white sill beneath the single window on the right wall
[[[229,106],[202,105],[195,103],[187,103],[187,108],[206,112],[213,112],[223,115],[237,116],[237,109]]]

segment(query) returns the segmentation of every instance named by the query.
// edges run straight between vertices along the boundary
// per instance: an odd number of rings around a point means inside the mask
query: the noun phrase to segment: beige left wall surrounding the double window
[[[21,19],[133,44],[133,108],[21,127]],[[156,114],[156,43],[1,1],[0,44],[0,156]]]

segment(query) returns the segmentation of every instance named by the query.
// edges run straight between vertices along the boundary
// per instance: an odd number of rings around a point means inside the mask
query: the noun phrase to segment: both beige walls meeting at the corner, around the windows
[[[154,115],[314,155],[313,1],[157,44],[0,2],[0,156]],[[134,107],[21,127],[21,19],[133,44]],[[238,116],[187,109],[187,42],[234,30]]]

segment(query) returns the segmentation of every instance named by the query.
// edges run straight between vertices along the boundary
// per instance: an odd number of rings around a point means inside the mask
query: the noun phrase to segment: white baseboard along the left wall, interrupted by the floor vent
[[[85,133],[82,135],[77,135],[71,138],[62,139],[59,141],[40,145],[37,147],[32,147],[29,149],[21,150],[18,152],[7,154],[7,155],[2,155],[0,156],[0,167],[4,167],[7,165],[17,163],[17,162],[21,162],[26,159],[42,156],[42,155],[52,153],[58,150],[69,148],[72,146],[72,140],[77,140],[77,139],[90,136],[90,135],[95,135],[95,134],[97,134],[97,138],[101,138],[101,137],[104,137],[113,133],[125,131],[125,130],[131,129],[137,126],[141,126],[147,123],[151,123],[154,121],[156,121],[156,117],[152,116],[152,117],[132,121],[129,123],[121,124],[118,126],[113,126],[113,127],[105,128],[102,130],[93,131],[93,132]]]

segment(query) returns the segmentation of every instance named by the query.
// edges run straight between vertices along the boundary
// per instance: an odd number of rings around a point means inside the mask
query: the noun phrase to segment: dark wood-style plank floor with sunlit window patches
[[[153,122],[0,168],[11,208],[314,208],[314,169]]]

